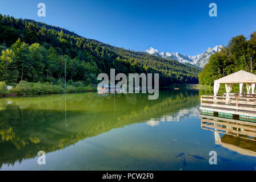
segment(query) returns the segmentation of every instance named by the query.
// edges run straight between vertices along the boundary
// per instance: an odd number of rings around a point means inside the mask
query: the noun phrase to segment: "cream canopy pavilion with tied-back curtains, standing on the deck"
[[[233,84],[239,84],[239,93],[242,94],[243,91],[243,84],[246,84],[247,94],[254,94],[254,88],[256,83],[256,75],[253,73],[249,73],[246,71],[238,71],[227,75],[225,77],[219,78],[218,80],[214,81],[214,97],[217,96],[219,86],[221,84],[225,84],[226,87],[226,97],[229,97],[229,93],[232,90]]]

